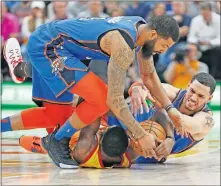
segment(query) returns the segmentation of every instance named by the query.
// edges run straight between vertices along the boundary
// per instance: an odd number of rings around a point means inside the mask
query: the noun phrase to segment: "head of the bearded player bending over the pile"
[[[179,25],[168,15],[153,17],[146,26],[146,38],[142,53],[144,57],[150,54],[164,53],[179,40]]]

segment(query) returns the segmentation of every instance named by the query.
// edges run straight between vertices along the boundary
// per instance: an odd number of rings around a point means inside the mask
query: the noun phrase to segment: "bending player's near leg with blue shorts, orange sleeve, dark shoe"
[[[56,165],[64,167],[73,164],[71,159],[67,158],[70,137],[77,130],[92,123],[108,111],[106,106],[107,87],[94,73],[88,72],[87,67],[79,59],[65,49],[66,41],[62,37],[57,36],[52,40],[51,36],[47,36],[48,33],[43,33],[43,31],[43,27],[41,30],[37,29],[29,39],[28,54],[33,69],[36,69],[36,72],[48,85],[54,98],[61,99],[69,91],[69,93],[76,93],[85,99],[79,105],[76,113],[59,129],[57,137],[55,137],[56,130],[47,136],[47,140],[43,138],[45,149],[48,149],[47,141],[50,141],[48,152],[52,160]],[[36,53],[36,51],[38,52]]]

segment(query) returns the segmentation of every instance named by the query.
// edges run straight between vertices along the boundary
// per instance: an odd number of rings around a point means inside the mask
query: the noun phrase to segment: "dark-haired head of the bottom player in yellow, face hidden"
[[[128,147],[128,137],[119,126],[108,127],[101,138],[101,150],[110,157],[119,157]]]

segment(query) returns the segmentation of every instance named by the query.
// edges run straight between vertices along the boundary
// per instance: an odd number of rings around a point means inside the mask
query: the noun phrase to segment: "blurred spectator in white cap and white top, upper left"
[[[34,32],[38,26],[45,23],[45,16],[44,16],[45,3],[43,1],[33,1],[31,3],[30,8],[31,8],[31,14],[23,18],[21,25],[21,36],[23,38],[23,44],[21,45],[21,52],[24,61],[29,61],[26,51],[26,45],[31,33]]]

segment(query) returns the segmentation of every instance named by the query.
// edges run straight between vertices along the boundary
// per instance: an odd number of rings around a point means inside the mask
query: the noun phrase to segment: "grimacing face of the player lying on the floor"
[[[184,98],[185,107],[190,111],[200,109],[204,104],[212,99],[210,88],[194,80],[188,85],[187,93]]]

